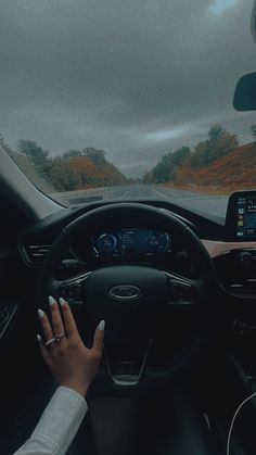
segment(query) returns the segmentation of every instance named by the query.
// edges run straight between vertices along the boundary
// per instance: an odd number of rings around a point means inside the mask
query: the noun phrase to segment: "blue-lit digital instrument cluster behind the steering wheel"
[[[132,228],[102,232],[91,240],[95,256],[157,255],[171,252],[169,233],[151,229]]]

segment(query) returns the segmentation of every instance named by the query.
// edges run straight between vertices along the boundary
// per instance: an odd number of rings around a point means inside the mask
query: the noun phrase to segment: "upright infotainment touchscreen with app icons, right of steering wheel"
[[[232,240],[256,239],[256,191],[239,191],[228,203],[226,227]]]

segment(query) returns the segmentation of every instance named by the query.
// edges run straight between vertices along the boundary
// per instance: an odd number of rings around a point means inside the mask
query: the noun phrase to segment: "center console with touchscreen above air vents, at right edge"
[[[247,377],[256,378],[256,191],[230,195],[225,240],[227,250],[214,262],[228,303],[232,350]]]

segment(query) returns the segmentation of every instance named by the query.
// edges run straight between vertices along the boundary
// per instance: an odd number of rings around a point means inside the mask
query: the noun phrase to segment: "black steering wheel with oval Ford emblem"
[[[170,267],[166,271],[150,260],[145,265],[105,265],[67,280],[55,278],[64,253],[74,244],[102,230],[135,226],[169,232],[172,241],[179,240],[193,263],[193,278],[171,273]],[[213,332],[219,286],[206,249],[182,220],[145,204],[114,203],[64,228],[43,263],[37,294],[44,308],[49,294],[72,298],[87,343],[97,324],[105,319],[100,378],[115,390],[128,390],[170,380],[197,358]],[[162,352],[159,361],[157,352]]]

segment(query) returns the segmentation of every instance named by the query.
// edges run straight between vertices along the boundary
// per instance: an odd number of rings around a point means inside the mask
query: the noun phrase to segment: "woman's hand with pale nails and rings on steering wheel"
[[[60,386],[69,387],[81,395],[97,375],[103,347],[104,326],[102,320],[95,329],[93,346],[88,349],[81,341],[67,302],[57,302],[50,296],[51,323],[42,309],[38,309],[46,343],[37,336],[42,357]],[[62,313],[62,315],[61,315]]]

